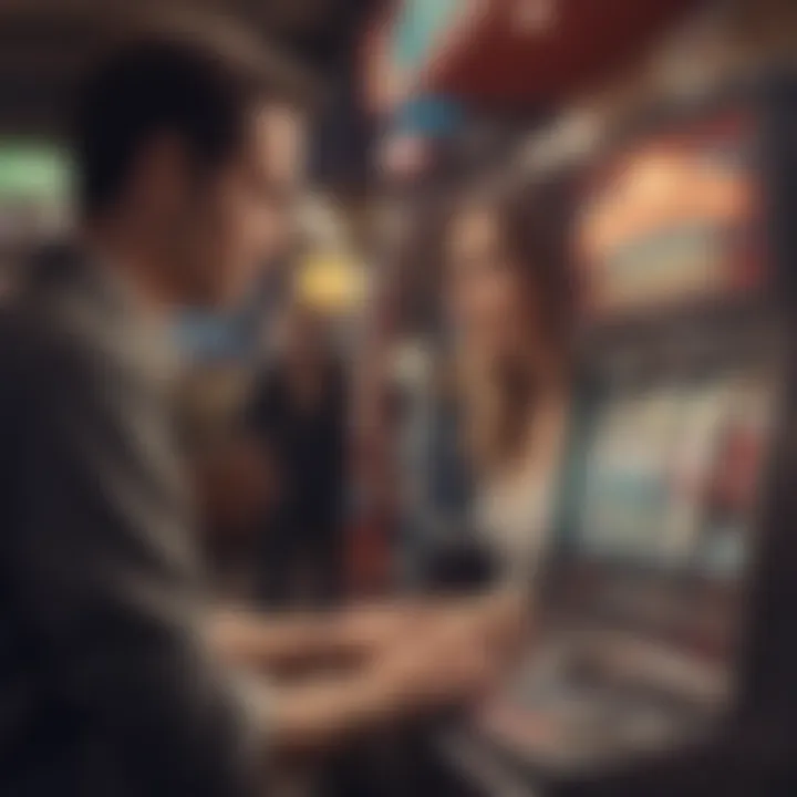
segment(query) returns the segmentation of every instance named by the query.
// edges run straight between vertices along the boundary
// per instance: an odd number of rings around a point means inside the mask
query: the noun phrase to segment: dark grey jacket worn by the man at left
[[[259,692],[203,645],[158,324],[80,257],[0,318],[0,794],[249,796]]]

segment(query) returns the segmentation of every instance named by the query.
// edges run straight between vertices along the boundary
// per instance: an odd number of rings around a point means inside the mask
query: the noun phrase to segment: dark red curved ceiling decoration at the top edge
[[[555,102],[633,63],[700,0],[486,0],[422,84],[489,103]]]

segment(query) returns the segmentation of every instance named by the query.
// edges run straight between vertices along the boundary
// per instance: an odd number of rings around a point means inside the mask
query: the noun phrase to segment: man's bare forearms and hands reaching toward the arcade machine
[[[385,604],[314,619],[283,642],[344,642],[369,650],[369,655],[352,675],[276,692],[277,748],[322,751],[351,736],[478,702],[511,660],[526,618],[525,596],[500,592],[447,604]]]

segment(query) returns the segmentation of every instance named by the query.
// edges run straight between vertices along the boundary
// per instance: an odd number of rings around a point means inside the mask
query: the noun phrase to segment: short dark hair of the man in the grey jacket
[[[155,136],[176,135],[197,170],[208,172],[241,146],[258,102],[303,103],[299,73],[246,44],[151,32],[120,44],[89,71],[72,121],[84,215],[113,206]]]

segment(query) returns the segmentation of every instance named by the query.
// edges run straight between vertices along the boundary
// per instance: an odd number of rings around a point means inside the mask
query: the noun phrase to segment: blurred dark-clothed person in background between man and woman
[[[257,588],[268,605],[327,605],[341,596],[345,394],[329,323],[292,304],[248,413],[277,482],[257,542]]]

